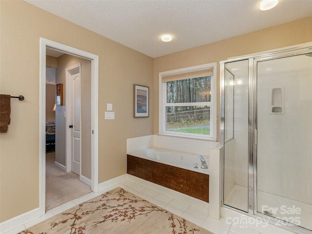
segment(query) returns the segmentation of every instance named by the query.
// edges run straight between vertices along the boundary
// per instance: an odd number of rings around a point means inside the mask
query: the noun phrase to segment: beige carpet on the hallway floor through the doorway
[[[65,173],[54,166],[55,152],[46,154],[45,210],[91,193],[91,188],[73,172]]]

